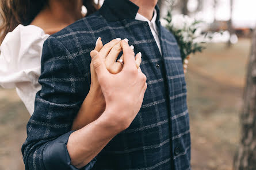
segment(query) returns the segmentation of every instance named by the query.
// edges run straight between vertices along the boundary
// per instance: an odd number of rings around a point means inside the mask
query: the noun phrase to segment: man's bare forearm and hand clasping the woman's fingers
[[[88,164],[114,136],[128,128],[142,106],[147,89],[146,76],[137,69],[135,54],[128,43],[122,41],[121,48],[124,68],[117,74],[108,71],[99,52],[91,52],[106,109],[97,120],[71,133],[68,139],[71,163],[77,168]]]

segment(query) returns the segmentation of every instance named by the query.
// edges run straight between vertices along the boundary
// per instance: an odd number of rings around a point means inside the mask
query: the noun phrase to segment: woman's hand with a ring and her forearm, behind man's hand
[[[128,39],[124,39],[123,41],[128,42]],[[130,48],[133,49],[133,46],[131,46]],[[123,65],[120,62],[116,62],[117,57],[122,51],[120,38],[113,39],[104,46],[102,44],[101,38],[98,38],[94,50],[100,53],[100,56],[104,60],[109,73],[117,74],[123,69]],[[124,56],[121,56],[120,58],[124,60]],[[138,53],[136,55],[135,62],[137,68],[139,68],[140,63],[142,62],[141,53]],[[101,86],[98,82],[97,74],[95,73],[92,62],[90,65],[90,72],[90,91],[87,94],[85,100],[83,101],[77,117],[75,117],[73,121],[72,130],[81,129],[83,128],[83,126],[86,126],[90,122],[93,122],[98,117],[100,117],[105,110],[105,98],[102,94]]]

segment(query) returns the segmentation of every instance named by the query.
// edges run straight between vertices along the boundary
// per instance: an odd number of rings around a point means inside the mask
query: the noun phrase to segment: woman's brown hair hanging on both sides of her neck
[[[0,0],[0,44],[19,24],[29,25],[47,4],[48,0]],[[98,9],[94,0],[83,0],[83,5],[87,15]]]

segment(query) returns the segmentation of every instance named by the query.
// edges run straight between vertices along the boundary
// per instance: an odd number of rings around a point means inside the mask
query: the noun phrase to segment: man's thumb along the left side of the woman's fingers
[[[96,50],[91,51],[91,62],[93,62],[93,67],[98,76],[98,79],[108,77],[108,70],[106,69],[106,65],[100,57],[100,53]]]

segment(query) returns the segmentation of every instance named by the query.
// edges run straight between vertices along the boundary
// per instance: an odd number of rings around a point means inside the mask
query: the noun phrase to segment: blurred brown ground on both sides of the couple
[[[232,170],[249,52],[250,40],[239,39],[231,49],[209,44],[190,59],[186,81],[193,170]],[[24,169],[21,145],[28,119],[15,90],[0,89],[0,170]]]

